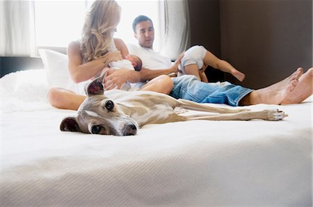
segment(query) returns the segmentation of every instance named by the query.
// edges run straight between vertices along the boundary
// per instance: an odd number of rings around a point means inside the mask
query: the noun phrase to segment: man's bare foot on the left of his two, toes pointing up
[[[300,76],[303,74],[303,68],[299,67],[296,72],[284,78],[284,80],[270,85],[266,88],[252,91],[246,97],[243,97],[240,105],[255,104],[282,104],[291,92],[296,88]]]

